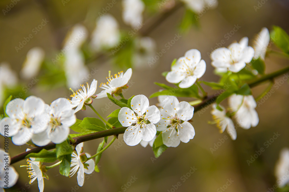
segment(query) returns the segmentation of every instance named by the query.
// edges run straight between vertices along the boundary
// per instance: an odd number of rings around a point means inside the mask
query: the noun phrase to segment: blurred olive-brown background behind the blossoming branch
[[[11,94],[22,98],[35,95],[46,103],[59,97],[69,98],[70,87],[77,88],[79,83],[90,84],[93,79],[105,83],[109,70],[115,74],[129,67],[133,68],[133,73],[131,86],[123,93],[125,98],[138,94],[149,97],[160,89],[154,82],[169,85],[161,73],[169,71],[173,59],[183,56],[192,48],[201,52],[207,64],[201,80],[218,81],[210,64],[209,55],[214,49],[227,47],[245,36],[249,37],[249,45],[252,45],[253,38],[262,27],[270,31],[273,25],[277,25],[289,32],[289,1],[286,0],[220,0],[216,7],[204,8],[202,14],[196,14],[199,16],[194,17],[197,21],[191,18],[194,15],[188,11],[188,7],[179,1],[145,0],[141,26],[123,21],[122,0],[13,2],[0,2],[0,62],[3,62],[0,79],[4,82],[0,87],[1,105]],[[135,8],[132,6],[130,9]],[[96,25],[100,17],[108,15],[114,18],[113,21],[105,20]],[[116,38],[116,42],[121,42],[125,37],[129,40],[110,47],[107,44],[95,46],[93,42],[105,39],[105,35],[95,35],[97,30],[105,28],[108,22],[115,24],[119,30],[120,38]],[[79,27],[85,32],[79,37],[83,41],[75,43],[81,42],[80,45],[70,49],[76,51],[60,54],[65,50],[65,45],[70,46],[73,29],[77,31]],[[107,34],[113,33],[108,31]],[[38,56],[33,56],[34,60],[40,58],[41,69],[35,72],[37,67],[28,67],[25,72],[23,63],[29,60],[31,56],[27,53],[34,47],[41,48]],[[271,48],[274,49],[274,45]],[[165,53],[154,60],[153,57],[162,49],[165,49]],[[115,54],[113,50],[116,50]],[[71,60],[68,56],[71,56]],[[81,69],[85,70],[81,71],[79,63],[73,65],[68,61],[81,63]],[[267,57],[265,63],[266,73],[288,66],[288,61],[274,55]],[[6,67],[10,68],[11,74],[1,73]],[[80,71],[83,77],[79,77]],[[281,83],[280,78],[276,82]],[[253,95],[259,96],[266,86],[265,83],[253,88]],[[204,88],[209,94],[214,93],[209,87]],[[194,139],[167,149],[158,159],[154,158],[151,147],[127,146],[123,136],[119,135],[103,153],[100,172],[86,175],[83,187],[77,185],[76,175],[67,178],[55,168],[47,172],[49,181],[45,180],[44,191],[269,191],[276,183],[274,167],[279,152],[283,147],[289,147],[288,88],[288,82],[273,87],[275,93],[258,104],[256,109],[260,118],[258,126],[249,130],[237,129],[235,141],[227,133],[220,134],[215,125],[208,124],[208,121],[212,121],[209,107],[194,114]],[[97,93],[100,91],[99,88]],[[191,101],[189,98],[179,100]],[[156,103],[157,98],[150,99],[151,105]],[[116,106],[111,107],[108,98],[96,99],[93,105],[103,117],[117,109]],[[95,117],[95,114],[90,109],[77,113],[77,119],[84,117]],[[272,139],[274,134],[280,136]],[[267,140],[273,142],[267,145]],[[95,154],[99,142],[101,140],[86,142],[84,150]],[[1,137],[1,148],[3,143]],[[265,151],[252,161],[251,155],[261,147]],[[21,153],[26,148],[25,145],[15,146],[11,142],[10,155]],[[247,160],[252,163],[248,165]],[[19,179],[16,186],[7,191],[38,191],[37,182],[29,185],[26,169],[19,167],[25,164],[26,161],[22,160],[13,165]]]

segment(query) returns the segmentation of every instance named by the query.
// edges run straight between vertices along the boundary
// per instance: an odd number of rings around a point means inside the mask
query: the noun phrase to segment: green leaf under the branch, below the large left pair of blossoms
[[[36,158],[35,161],[51,163],[57,160],[56,149],[53,149],[53,151],[47,151],[46,149],[42,149],[41,151],[39,151],[39,153],[29,153],[28,155],[26,155],[25,158],[30,157]]]

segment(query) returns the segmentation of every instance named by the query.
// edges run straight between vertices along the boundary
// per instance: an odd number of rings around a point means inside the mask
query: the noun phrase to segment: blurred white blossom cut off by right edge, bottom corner
[[[280,157],[275,166],[275,176],[278,187],[285,187],[289,183],[289,149],[284,148],[280,152]]]

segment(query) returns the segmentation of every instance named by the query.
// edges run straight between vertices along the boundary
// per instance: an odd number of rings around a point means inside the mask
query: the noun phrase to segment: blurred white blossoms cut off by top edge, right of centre
[[[214,9],[218,6],[218,0],[182,0],[195,13],[202,10]]]

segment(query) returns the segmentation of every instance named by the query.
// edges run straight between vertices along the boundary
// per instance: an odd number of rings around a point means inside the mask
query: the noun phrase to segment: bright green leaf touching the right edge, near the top
[[[277,47],[289,54],[289,36],[281,27],[273,26],[270,37]]]

